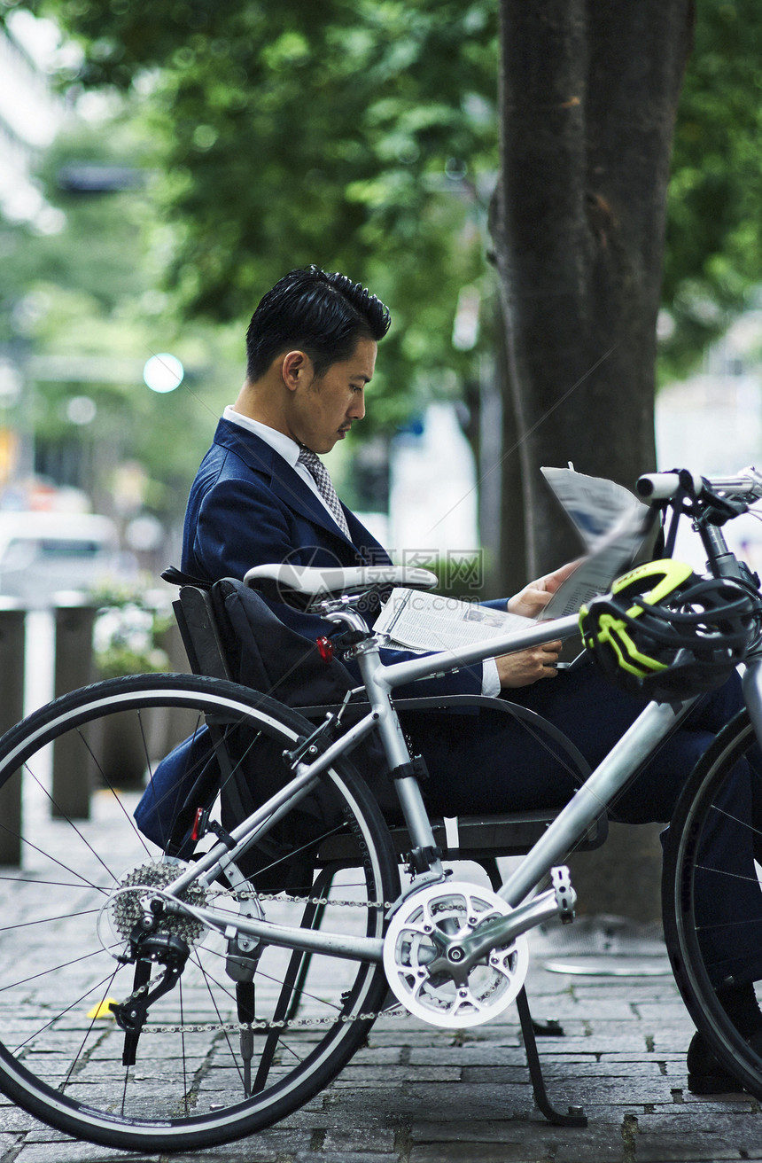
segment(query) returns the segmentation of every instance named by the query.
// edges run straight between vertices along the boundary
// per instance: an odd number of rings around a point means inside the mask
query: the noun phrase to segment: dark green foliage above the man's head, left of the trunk
[[[162,277],[180,311],[240,326],[275,279],[312,262],[372,285],[394,327],[366,430],[470,371],[451,334],[461,287],[491,281],[491,3],[24,6],[85,48],[63,84],[113,86],[144,109]]]

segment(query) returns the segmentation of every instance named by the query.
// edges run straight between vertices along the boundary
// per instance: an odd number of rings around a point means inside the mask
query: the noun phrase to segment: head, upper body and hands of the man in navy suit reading
[[[344,311],[347,290],[357,299],[356,313],[352,308],[343,321],[350,329],[341,347],[330,330],[315,330],[314,324],[309,330],[302,323],[302,330],[297,326],[294,331],[294,300],[315,288]],[[325,314],[320,323],[325,326]],[[386,308],[343,276],[294,272],[265,295],[249,327],[245,383],[236,402],[226,408],[191,490],[184,571],[216,580],[242,578],[252,565],[271,562],[318,566],[390,562],[335,494],[336,512],[332,512],[305,463],[305,450],[330,451],[364,416],[365,386],[373,374],[378,340],[387,328]],[[525,594],[512,608],[537,613],[567,573],[544,579],[534,600]],[[326,630],[325,623],[287,606],[280,606],[278,614],[311,641]],[[501,659],[491,668],[491,692],[555,677],[558,647],[553,643]],[[477,692],[483,685],[478,668],[449,676],[439,690]]]

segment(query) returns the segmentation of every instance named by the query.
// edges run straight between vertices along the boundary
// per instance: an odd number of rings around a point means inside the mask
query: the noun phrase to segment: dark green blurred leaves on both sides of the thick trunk
[[[289,267],[344,269],[393,309],[368,430],[432,391],[461,391],[473,364],[451,343],[458,293],[492,288],[492,0],[0,0],[14,7],[81,43],[81,67],[60,78],[70,92],[130,94],[158,207],[142,223],[149,262],[181,312],[240,323]],[[664,374],[688,370],[757,283],[761,60],[754,0],[698,0],[670,188]],[[102,271],[119,266],[104,255]],[[115,293],[120,276],[102,281]]]

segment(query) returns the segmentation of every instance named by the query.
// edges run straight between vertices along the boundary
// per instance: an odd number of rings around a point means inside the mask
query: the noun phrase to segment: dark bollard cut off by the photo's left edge
[[[26,611],[0,599],[0,734],[23,718]],[[21,780],[0,787],[0,864],[21,864]]]

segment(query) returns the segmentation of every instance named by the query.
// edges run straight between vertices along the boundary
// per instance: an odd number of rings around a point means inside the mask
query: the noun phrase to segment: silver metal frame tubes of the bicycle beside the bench
[[[265,821],[269,826],[275,823],[279,812],[285,812],[286,808],[308,794],[316,785],[320,775],[330,768],[340,756],[352,750],[371,730],[377,729],[379,733],[390,770],[408,764],[411,756],[391,698],[396,687],[412,682],[414,678],[429,677],[480,662],[496,654],[522,650],[542,642],[569,637],[577,630],[577,618],[572,615],[554,622],[539,623],[526,630],[514,630],[505,636],[491,638],[487,643],[460,650],[448,650],[440,655],[429,655],[391,665],[385,665],[382,662],[378,643],[371,640],[358,654],[361,673],[370,700],[370,712],[327,747],[318,758],[311,763],[300,762],[295,777],[233,829],[230,836],[236,846],[234,849],[223,843],[213,846],[206,856],[188,868],[164,892],[171,897],[181,892],[195,879],[212,882],[227,864],[235,861],[236,852],[243,851],[255,834],[263,834],[261,829]],[[519,868],[499,890],[499,896],[512,906],[513,912],[510,916],[483,926],[478,935],[478,947],[476,937],[467,939],[463,942],[469,961],[482,956],[485,949],[505,944],[527,929],[557,915],[558,906],[555,892],[549,891],[534,900],[527,898],[532,897],[537,883],[547,876],[550,869],[574,848],[574,844],[600,814],[601,807],[615,798],[627,780],[685,718],[695,701],[695,699],[690,699],[678,705],[651,702],[641,712],[632,727],[578,789],[569,804],[550,823],[541,840],[522,858]],[[762,694],[759,697],[759,702],[762,721]],[[396,779],[396,785],[413,847],[433,849],[435,840],[416,777],[413,775],[403,776]],[[433,859],[429,870],[419,873],[412,880],[404,897],[414,892],[421,884],[440,879],[442,875],[440,861]],[[219,913],[213,908],[192,908],[186,904],[172,904],[166,898],[164,898],[164,904],[169,911],[188,912],[204,925],[220,932],[229,929],[234,923],[235,928],[247,936],[290,949],[312,952],[325,951],[333,956],[375,963],[380,963],[383,957],[383,941],[370,937],[349,939],[320,930],[306,932],[285,928],[272,921],[250,916],[240,916],[236,918],[235,922],[232,922],[229,913]]]

